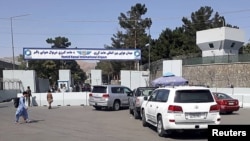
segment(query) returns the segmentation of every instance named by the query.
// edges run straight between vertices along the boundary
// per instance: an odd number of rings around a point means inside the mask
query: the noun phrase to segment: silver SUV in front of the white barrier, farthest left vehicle
[[[121,85],[94,85],[89,94],[89,105],[95,109],[101,108],[119,110],[129,107],[129,97],[132,90]]]

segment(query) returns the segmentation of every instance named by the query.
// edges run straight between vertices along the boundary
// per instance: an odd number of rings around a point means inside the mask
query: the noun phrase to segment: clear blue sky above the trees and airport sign
[[[202,6],[224,16],[226,23],[236,25],[250,38],[249,0],[0,0],[0,58],[12,56],[11,24],[15,55],[23,47],[50,48],[47,38],[66,37],[71,48],[103,48],[120,30],[118,17],[136,3],[145,4],[144,17],[152,19],[150,29],[156,39],[166,28],[182,25],[182,17],[190,17]],[[213,14],[214,14],[213,13]]]

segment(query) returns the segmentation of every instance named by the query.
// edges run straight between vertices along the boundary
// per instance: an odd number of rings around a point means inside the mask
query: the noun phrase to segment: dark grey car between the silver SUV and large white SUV
[[[138,87],[133,90],[132,97],[129,98],[129,113],[133,114],[135,119],[141,118],[141,104],[144,96],[149,96],[156,87]]]

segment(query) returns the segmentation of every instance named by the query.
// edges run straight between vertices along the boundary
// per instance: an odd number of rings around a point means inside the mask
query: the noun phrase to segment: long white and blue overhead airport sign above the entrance
[[[140,60],[139,49],[23,48],[25,60]]]

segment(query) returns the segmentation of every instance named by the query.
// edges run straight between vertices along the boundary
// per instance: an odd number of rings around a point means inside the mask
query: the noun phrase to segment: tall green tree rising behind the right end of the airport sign
[[[118,17],[121,31],[118,31],[111,38],[111,46],[105,46],[106,49],[141,49],[142,59],[141,63],[148,62],[148,49],[146,44],[150,41],[150,36],[147,34],[147,30],[152,25],[150,18],[143,18],[143,15],[147,13],[145,4],[137,3],[131,6],[130,11],[126,13],[120,13]],[[120,70],[135,70],[135,61],[109,61],[110,67],[103,66],[103,61],[97,64],[97,68],[111,69],[113,76],[119,76]],[[107,62],[103,63],[106,64]],[[110,71],[104,71],[109,72]]]

